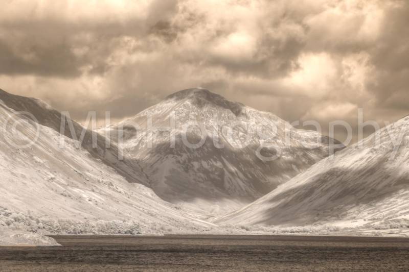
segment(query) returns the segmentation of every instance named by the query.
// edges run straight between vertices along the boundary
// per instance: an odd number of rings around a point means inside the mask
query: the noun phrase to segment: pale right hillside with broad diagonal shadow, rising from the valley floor
[[[409,116],[311,166],[251,205],[214,221],[354,227],[407,220],[408,135]]]

